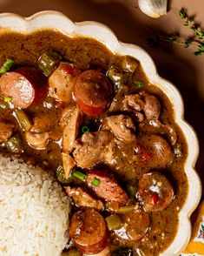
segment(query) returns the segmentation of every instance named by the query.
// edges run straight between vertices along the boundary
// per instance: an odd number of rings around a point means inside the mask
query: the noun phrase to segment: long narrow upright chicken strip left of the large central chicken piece
[[[79,131],[80,116],[78,107],[68,109],[67,113],[63,115],[63,152],[70,153],[74,149],[74,143]]]

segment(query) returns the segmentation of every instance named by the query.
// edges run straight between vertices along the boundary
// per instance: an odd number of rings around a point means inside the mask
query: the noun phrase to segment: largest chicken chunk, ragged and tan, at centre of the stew
[[[109,152],[109,144],[114,136],[111,131],[87,132],[75,144],[73,156],[78,166],[89,168],[102,162]]]

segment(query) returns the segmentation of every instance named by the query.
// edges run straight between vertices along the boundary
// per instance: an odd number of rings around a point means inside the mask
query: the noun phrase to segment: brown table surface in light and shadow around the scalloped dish
[[[185,118],[197,132],[201,152],[196,169],[204,184],[204,54],[194,57],[193,49],[176,46],[169,51],[152,48],[147,38],[153,31],[190,36],[178,10],[185,7],[189,15],[204,28],[204,1],[171,0],[168,15],[153,19],[141,13],[137,0],[0,0],[0,12],[30,16],[40,10],[62,11],[73,21],[95,20],[108,25],[125,43],[138,44],[153,57],[161,77],[175,84],[185,104]]]

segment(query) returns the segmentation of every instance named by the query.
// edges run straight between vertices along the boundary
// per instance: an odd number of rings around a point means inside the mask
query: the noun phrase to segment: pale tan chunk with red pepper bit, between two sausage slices
[[[76,78],[81,73],[73,64],[61,62],[49,77],[49,94],[57,100],[69,103],[72,99]]]

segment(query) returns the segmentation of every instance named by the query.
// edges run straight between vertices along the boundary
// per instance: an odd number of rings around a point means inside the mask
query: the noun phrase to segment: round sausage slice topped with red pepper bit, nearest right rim
[[[162,211],[174,198],[174,190],[168,179],[159,172],[149,172],[139,180],[137,198],[147,212]]]

